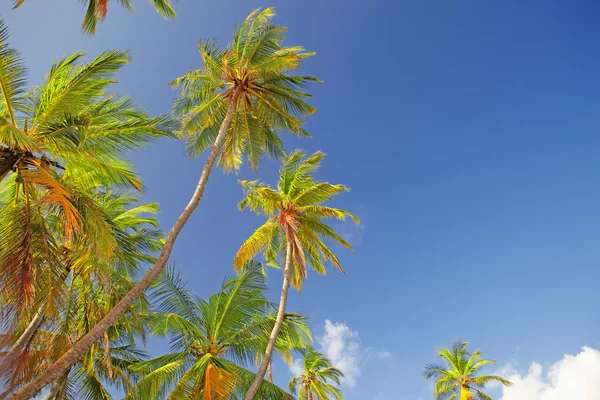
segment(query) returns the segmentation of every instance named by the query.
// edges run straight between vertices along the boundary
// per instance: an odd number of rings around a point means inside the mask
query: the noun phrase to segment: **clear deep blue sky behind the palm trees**
[[[146,1],[133,14],[113,1],[91,39],[75,1],[8,3],[0,10],[32,83],[67,52],[128,49],[114,90],[153,114],[170,109],[168,83],[200,65],[197,40],[228,41],[255,7],[274,5],[288,43],[317,52],[303,68],[325,81],[312,90],[313,139],[286,145],[328,153],[319,177],[350,186],[336,204],[363,221],[339,227],[356,247],[340,252],[347,275],[309,275],[289,308],[317,337],[326,320],[348,329],[346,361],[360,373],[346,399],[430,398],[422,367],[459,336],[522,372],[600,347],[593,2],[180,0],[167,22]],[[175,141],[132,157],[168,229],[204,158]],[[197,294],[218,289],[261,221],[237,211],[236,180],[273,182],[276,168],[211,178],[172,257]],[[270,277],[274,299],[280,279]],[[275,373],[286,382],[287,367]]]

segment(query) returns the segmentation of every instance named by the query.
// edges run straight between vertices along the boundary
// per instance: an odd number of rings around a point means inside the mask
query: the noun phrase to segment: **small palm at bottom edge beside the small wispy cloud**
[[[344,377],[343,372],[334,368],[327,357],[314,349],[303,353],[302,375],[292,378],[289,385],[290,391],[293,394],[297,392],[298,398],[301,400],[328,400],[330,398],[342,400],[340,389],[328,381],[339,385],[340,378]]]

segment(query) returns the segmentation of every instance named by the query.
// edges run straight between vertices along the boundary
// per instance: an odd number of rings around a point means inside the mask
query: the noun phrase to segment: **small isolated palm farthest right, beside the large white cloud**
[[[428,364],[425,366],[425,378],[435,378],[436,400],[491,400],[482,392],[490,382],[500,382],[510,386],[511,382],[497,375],[479,375],[479,369],[485,365],[496,364],[493,360],[482,358],[481,350],[473,354],[467,350],[469,342],[456,341],[451,349],[438,351],[438,357],[446,365]]]

